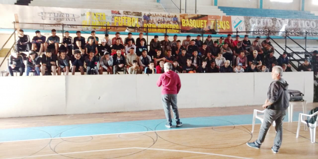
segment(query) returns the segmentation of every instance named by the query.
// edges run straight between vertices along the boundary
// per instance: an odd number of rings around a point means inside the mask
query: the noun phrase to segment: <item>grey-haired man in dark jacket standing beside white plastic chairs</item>
[[[262,106],[266,111],[264,112],[264,121],[261,124],[258,138],[252,143],[246,143],[246,145],[251,148],[260,149],[268,129],[275,121],[276,137],[271,149],[273,153],[277,154],[282,145],[283,120],[286,115],[286,109],[289,106],[289,94],[287,91],[288,83],[282,79],[283,69],[280,66],[273,67],[271,76],[274,81],[270,83],[267,99]]]

